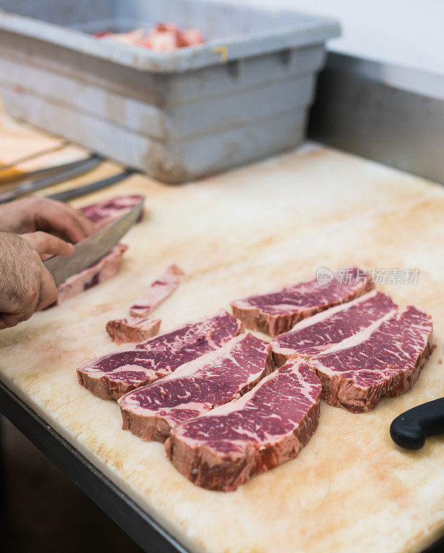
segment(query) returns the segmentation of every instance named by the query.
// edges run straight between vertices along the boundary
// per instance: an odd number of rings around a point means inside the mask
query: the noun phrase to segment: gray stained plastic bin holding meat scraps
[[[198,0],[0,0],[3,104],[165,182],[294,147],[336,21]],[[198,28],[174,53],[91,33]]]

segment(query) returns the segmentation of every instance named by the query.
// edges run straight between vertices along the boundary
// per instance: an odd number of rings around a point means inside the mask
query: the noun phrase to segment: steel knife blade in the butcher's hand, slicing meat
[[[55,283],[58,286],[66,281],[73,274],[80,272],[90,265],[93,265],[99,259],[111,250],[137,221],[142,213],[144,200],[139,201],[129,212],[122,215],[113,223],[100,230],[94,236],[86,238],[79,242],[74,247],[74,252],[69,256],[54,256],[44,261],[45,267],[54,277]]]

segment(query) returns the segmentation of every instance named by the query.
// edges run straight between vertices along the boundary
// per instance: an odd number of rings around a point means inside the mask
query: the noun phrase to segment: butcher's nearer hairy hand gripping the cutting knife
[[[69,255],[74,246],[46,232],[12,234],[0,231],[0,330],[26,321],[57,300],[44,254]]]

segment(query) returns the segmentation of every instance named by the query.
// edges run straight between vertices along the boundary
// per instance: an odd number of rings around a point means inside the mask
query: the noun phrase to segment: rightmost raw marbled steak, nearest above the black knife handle
[[[412,388],[432,349],[432,319],[407,306],[308,363],[322,382],[322,399],[363,413]]]

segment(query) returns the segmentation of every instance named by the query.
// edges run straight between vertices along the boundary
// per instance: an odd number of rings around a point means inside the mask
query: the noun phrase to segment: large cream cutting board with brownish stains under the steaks
[[[193,552],[409,553],[438,538],[444,438],[403,451],[389,424],[444,391],[444,190],[312,144],[182,187],[132,176],[88,203],[139,193],[147,214],[125,238],[119,275],[1,331],[1,381]],[[128,315],[172,262],[186,277],[155,314],[162,330],[320,265],[419,268],[416,285],[380,288],[432,315],[436,349],[409,393],[362,415],[322,402],[318,431],[296,460],[233,493],[206,491],[175,471],[161,444],[122,431],[117,404],[75,377],[115,349],[106,321]]]

